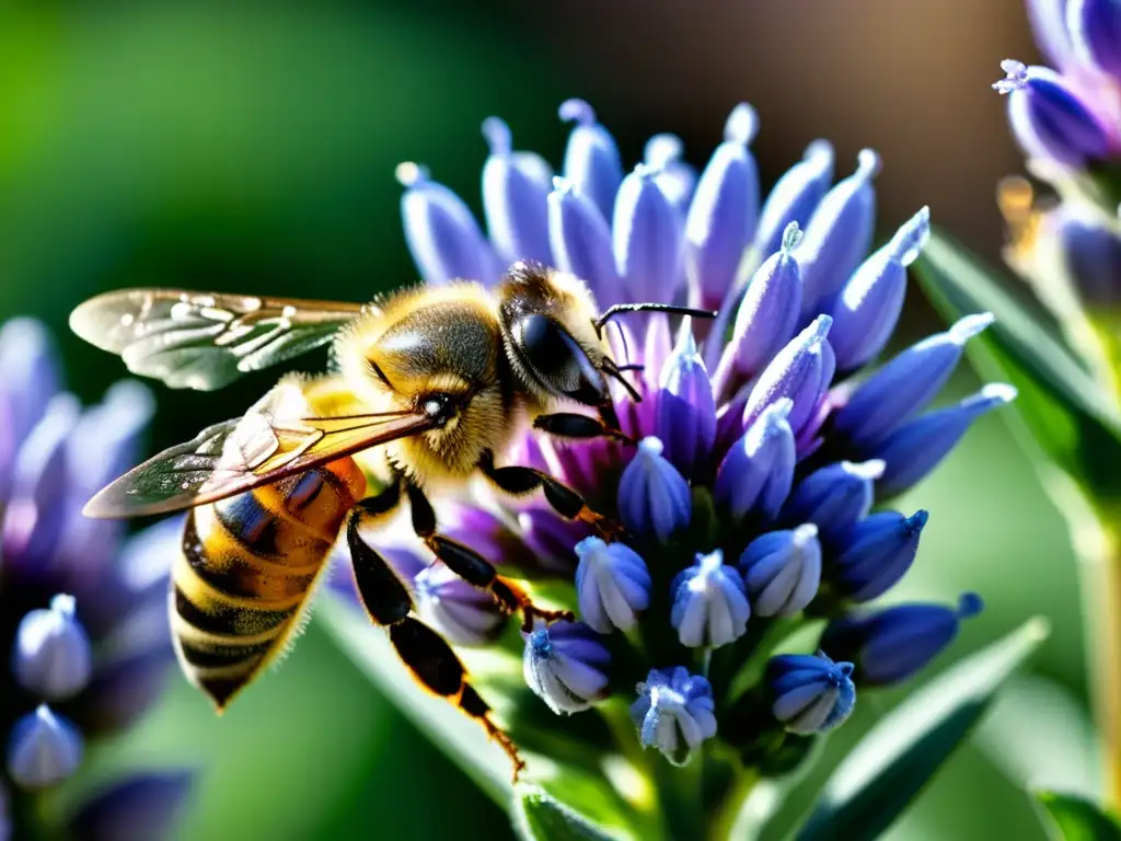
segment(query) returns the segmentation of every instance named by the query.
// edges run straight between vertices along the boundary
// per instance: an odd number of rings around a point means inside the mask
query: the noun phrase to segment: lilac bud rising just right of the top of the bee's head
[[[553,187],[548,198],[549,243],[556,267],[586,281],[597,298],[611,297],[619,288],[619,272],[603,214],[571,182],[554,178]]]

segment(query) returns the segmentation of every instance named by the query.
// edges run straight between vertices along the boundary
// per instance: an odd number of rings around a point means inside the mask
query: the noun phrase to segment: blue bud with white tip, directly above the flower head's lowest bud
[[[669,622],[683,646],[717,648],[747,631],[751,616],[747,589],[720,549],[697,555],[697,562],[677,573],[669,586],[674,599]]]

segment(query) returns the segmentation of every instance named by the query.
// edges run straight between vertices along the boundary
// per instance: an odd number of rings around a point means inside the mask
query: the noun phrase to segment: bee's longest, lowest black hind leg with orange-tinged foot
[[[380,497],[381,495],[374,499]],[[526,767],[518,755],[518,747],[491,721],[490,708],[467,683],[466,669],[452,647],[432,628],[409,616],[413,598],[408,590],[386,560],[359,535],[362,516],[361,508],[351,515],[346,524],[346,543],[354,567],[354,581],[367,612],[376,625],[389,628],[389,639],[397,655],[417,681],[479,720],[487,729],[487,734],[510,757],[517,782],[518,774]]]

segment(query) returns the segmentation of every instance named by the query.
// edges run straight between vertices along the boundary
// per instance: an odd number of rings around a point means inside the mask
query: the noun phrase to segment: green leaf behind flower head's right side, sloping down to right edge
[[[1101,506],[1121,500],[1121,418],[1104,390],[993,272],[935,231],[916,264],[919,281],[948,320],[991,312],[995,324],[967,352],[982,375],[1019,390],[1013,404],[1031,438]]]

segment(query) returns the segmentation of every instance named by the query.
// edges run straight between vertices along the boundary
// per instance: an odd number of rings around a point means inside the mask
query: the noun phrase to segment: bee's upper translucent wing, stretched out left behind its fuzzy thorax
[[[212,391],[326,344],[362,311],[332,301],[122,289],[78,306],[71,329],[136,375]]]

